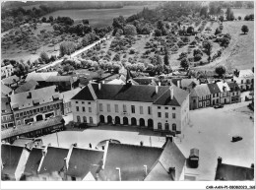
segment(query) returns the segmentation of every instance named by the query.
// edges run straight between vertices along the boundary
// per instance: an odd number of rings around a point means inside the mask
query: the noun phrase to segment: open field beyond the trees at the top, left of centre
[[[155,5],[147,7],[154,8]],[[50,13],[45,17],[70,17],[75,23],[80,22],[83,19],[88,19],[92,27],[100,28],[112,25],[113,18],[119,17],[120,15],[127,18],[133,14],[141,12],[143,8],[144,6],[125,6],[121,9],[60,10]]]

